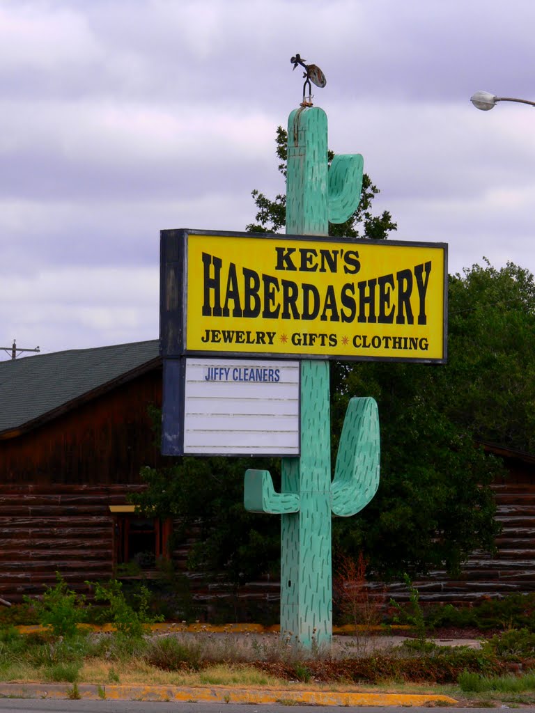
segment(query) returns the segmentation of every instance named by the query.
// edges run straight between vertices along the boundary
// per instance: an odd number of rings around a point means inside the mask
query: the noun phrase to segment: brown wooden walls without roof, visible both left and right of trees
[[[142,466],[169,465],[155,444],[148,405],[161,405],[161,365],[117,383],[29,431],[0,436],[0,597],[21,601],[54,583],[56,570],[83,590],[85,580],[113,575],[115,520],[109,506],[143,487]],[[488,448],[509,476],[494,483],[503,531],[494,556],[474,553],[452,580],[434,572],[417,580],[422,602],[470,603],[535,590],[535,457]],[[176,552],[185,568],[191,543]],[[200,602],[228,597],[225,585],[190,573]],[[382,591],[382,585],[370,585]],[[406,599],[402,585],[387,590]],[[272,580],[248,583],[240,597],[272,602]]]

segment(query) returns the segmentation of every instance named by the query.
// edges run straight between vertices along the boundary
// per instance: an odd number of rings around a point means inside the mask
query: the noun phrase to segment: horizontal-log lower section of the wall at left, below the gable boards
[[[0,486],[0,597],[19,603],[54,585],[56,571],[83,592],[113,576],[114,520],[140,486]]]

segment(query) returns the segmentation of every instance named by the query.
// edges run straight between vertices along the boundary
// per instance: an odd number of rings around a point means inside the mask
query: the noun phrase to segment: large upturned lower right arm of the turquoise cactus
[[[379,460],[377,403],[369,397],[351,399],[331,486],[331,508],[335,515],[356,515],[367,506],[379,486]]]

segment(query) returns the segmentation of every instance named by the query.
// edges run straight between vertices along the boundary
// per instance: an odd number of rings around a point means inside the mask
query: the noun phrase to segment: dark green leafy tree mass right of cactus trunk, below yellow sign
[[[333,542],[342,551],[362,550],[387,579],[444,566],[455,572],[475,548],[494,547],[489,483],[501,466],[442,408],[440,369],[447,366],[365,362],[332,369],[333,441],[349,396],[366,394],[379,404],[382,442],[377,495],[355,518],[335,520]]]

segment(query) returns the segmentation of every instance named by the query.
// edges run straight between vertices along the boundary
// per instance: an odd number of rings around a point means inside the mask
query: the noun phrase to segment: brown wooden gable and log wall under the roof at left
[[[112,505],[162,462],[148,416],[161,366],[41,426],[0,439],[0,597],[41,593],[58,570],[78,591],[113,575]]]

